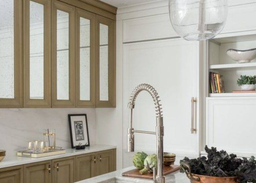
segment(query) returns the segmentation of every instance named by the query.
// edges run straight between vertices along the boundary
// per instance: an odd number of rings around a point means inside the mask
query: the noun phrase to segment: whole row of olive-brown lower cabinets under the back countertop
[[[116,170],[116,149],[0,169],[0,183],[73,183]]]

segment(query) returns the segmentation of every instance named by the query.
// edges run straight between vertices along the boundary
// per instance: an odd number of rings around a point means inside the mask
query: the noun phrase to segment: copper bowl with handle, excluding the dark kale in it
[[[180,168],[186,173],[191,183],[236,183],[239,177],[213,177],[191,174],[190,166],[187,163],[181,163]]]

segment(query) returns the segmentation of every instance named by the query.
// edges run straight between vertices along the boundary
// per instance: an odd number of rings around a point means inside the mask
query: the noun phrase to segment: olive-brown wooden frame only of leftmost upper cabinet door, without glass
[[[14,98],[0,98],[0,107],[23,107],[22,0],[14,0]]]

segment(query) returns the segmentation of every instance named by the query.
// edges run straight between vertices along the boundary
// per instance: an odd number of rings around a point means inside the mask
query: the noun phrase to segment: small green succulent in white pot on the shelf
[[[256,76],[241,75],[237,80],[237,85],[241,86],[242,90],[254,90],[256,84]]]

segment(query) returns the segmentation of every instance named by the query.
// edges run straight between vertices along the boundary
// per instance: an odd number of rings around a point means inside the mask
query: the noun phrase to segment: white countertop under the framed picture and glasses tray
[[[0,162],[0,169],[6,168],[6,167],[13,167],[17,165],[24,165],[28,163],[36,163],[39,161],[47,161],[51,159],[58,159],[58,158],[65,158],[69,156],[76,156],[80,154],[87,154],[87,153],[97,152],[102,150],[115,149],[115,148],[116,148],[115,145],[91,145],[90,147],[86,147],[83,150],[66,149],[66,154],[46,156],[42,158],[27,158],[27,157],[20,157],[20,156],[7,157]]]

